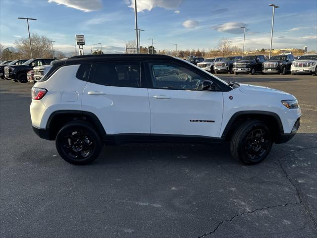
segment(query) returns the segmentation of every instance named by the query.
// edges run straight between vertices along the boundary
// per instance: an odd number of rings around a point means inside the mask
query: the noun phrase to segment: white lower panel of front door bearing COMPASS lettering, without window
[[[151,134],[219,137],[222,121],[222,92],[148,90],[151,106]],[[156,96],[162,98],[156,98]]]

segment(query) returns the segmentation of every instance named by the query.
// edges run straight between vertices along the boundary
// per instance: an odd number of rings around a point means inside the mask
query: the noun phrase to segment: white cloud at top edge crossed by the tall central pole
[[[162,7],[173,10],[179,6],[182,0],[137,0],[137,11],[151,11],[154,7]],[[129,7],[134,9],[134,0],[125,0]]]

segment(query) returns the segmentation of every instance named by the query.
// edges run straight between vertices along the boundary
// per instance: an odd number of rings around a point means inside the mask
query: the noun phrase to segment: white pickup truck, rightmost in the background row
[[[291,74],[317,75],[317,54],[305,54],[294,61],[291,66]]]

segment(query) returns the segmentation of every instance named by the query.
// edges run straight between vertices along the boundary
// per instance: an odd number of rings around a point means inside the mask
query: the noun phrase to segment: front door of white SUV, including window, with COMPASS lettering
[[[207,76],[177,63],[149,62],[147,69],[151,134],[219,137],[222,92],[202,91]]]

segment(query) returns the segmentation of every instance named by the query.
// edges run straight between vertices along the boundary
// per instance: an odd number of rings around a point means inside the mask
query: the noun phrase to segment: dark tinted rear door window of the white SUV
[[[140,63],[97,63],[94,83],[116,87],[141,87]]]

